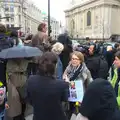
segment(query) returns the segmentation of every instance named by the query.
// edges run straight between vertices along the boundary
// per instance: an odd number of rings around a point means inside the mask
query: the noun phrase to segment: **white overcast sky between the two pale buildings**
[[[38,8],[47,13],[48,0],[32,0],[32,1]],[[50,0],[51,16],[54,17],[59,22],[61,21],[63,25],[65,24],[64,10],[68,7],[70,1],[71,0]]]

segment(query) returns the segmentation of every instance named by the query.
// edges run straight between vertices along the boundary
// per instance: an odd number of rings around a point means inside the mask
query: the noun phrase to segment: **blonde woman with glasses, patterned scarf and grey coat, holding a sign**
[[[74,51],[72,53],[71,61],[63,74],[63,79],[66,82],[82,80],[84,91],[92,82],[91,73],[84,63],[84,55],[81,52]],[[69,102],[69,106],[68,119],[75,112],[75,102]]]

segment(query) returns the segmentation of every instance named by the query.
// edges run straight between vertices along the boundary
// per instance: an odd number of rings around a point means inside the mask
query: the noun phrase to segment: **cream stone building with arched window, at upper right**
[[[120,35],[120,0],[81,0],[65,10],[65,17],[72,37]]]

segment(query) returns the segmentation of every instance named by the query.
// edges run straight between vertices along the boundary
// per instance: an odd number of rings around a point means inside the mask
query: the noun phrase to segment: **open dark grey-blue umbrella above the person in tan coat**
[[[0,58],[9,59],[9,58],[23,58],[23,57],[34,57],[41,56],[43,54],[37,47],[29,46],[15,46],[2,50],[0,52]]]

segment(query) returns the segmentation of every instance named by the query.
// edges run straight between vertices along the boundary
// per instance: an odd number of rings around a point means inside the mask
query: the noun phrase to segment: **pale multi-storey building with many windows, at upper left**
[[[42,21],[41,10],[30,0],[0,0],[0,17],[7,16],[10,18],[1,19],[0,22],[10,27],[22,27],[23,33],[36,33]]]

